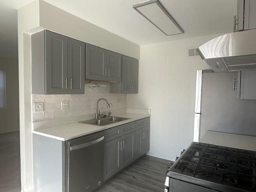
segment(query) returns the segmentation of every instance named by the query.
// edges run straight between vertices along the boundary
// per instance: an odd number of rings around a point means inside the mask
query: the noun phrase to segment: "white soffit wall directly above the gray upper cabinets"
[[[45,1],[39,1],[39,9],[40,26],[43,28],[132,58],[140,58],[140,46],[133,42],[61,10]]]

